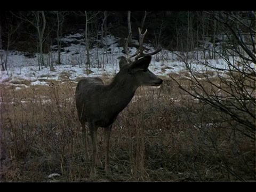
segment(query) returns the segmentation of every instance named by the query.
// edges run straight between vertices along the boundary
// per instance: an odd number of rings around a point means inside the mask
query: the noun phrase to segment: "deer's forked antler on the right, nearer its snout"
[[[131,58],[134,57],[135,55],[137,55],[134,59],[135,61],[137,61],[139,58],[149,56],[149,55],[154,55],[154,54],[162,51],[162,48],[158,46],[156,51],[153,51],[151,53],[143,53],[143,51],[145,50],[145,47],[143,47],[143,39],[144,39],[148,29],[146,29],[145,33],[143,33],[143,34],[141,34],[140,28],[138,28],[138,29],[139,29],[139,36],[140,36],[139,37],[139,49],[136,51],[135,54],[131,55]]]

